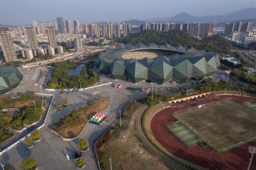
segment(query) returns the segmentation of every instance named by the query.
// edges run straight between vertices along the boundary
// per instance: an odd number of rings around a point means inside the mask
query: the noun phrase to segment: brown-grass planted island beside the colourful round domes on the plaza
[[[77,110],[72,110],[64,118],[52,124],[51,129],[64,138],[77,137],[89,121],[90,116],[105,110],[109,102],[110,99],[108,97],[95,99],[86,107],[79,107]]]

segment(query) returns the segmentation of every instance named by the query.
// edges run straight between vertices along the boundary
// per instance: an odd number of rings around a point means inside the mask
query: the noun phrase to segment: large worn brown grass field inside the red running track
[[[175,117],[215,150],[256,136],[256,112],[234,101],[179,113]]]

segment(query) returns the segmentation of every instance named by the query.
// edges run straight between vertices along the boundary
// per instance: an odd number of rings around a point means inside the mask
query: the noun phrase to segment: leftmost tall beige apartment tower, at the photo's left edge
[[[17,59],[9,28],[0,28],[0,44],[6,62]]]

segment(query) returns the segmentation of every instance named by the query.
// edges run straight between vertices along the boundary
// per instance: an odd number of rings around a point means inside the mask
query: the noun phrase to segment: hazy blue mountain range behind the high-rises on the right
[[[186,12],[182,12],[173,17],[167,18],[151,18],[146,19],[148,22],[174,22],[180,21],[185,23],[221,23],[225,21],[236,21],[245,19],[255,19],[256,18],[256,8],[244,8],[238,11],[229,12],[223,15],[213,15],[213,16],[193,16]]]

